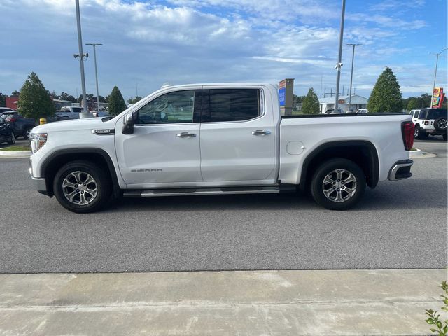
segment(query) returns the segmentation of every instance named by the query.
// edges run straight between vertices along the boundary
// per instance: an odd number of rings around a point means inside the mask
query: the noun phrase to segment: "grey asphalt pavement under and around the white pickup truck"
[[[0,273],[230,269],[442,269],[447,143],[417,141],[412,179],[351,211],[305,195],[121,199],[72,214],[31,188],[28,159],[0,159]]]

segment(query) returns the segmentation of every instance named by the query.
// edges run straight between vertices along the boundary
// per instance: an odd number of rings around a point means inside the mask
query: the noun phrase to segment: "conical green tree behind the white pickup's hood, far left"
[[[55,105],[36,73],[31,72],[23,83],[18,101],[20,114],[27,118],[44,118],[55,114]]]

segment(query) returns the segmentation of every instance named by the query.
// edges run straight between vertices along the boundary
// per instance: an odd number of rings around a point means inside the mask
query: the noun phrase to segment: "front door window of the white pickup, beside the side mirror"
[[[169,92],[139,109],[136,124],[193,123],[194,106],[195,90]]]

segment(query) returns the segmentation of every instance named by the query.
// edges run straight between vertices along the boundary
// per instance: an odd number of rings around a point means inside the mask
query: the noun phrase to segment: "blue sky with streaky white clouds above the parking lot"
[[[99,93],[125,99],[163,83],[264,82],[295,78],[295,93],[335,90],[340,1],[81,0],[83,43],[97,47]],[[34,71],[55,92],[81,93],[74,0],[1,0],[0,92],[20,90]],[[356,49],[353,87],[369,97],[385,66],[402,96],[430,93],[435,56],[447,47],[446,0],[346,0],[345,43]],[[94,93],[92,47],[85,62]],[[342,87],[350,80],[344,47]],[[436,86],[448,91],[447,52]]]

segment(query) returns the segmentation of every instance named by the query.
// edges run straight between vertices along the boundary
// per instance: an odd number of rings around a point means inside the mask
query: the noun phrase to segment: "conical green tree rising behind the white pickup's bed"
[[[402,108],[400,84],[391,68],[386,67],[373,87],[367,109],[378,113],[400,112]]]

